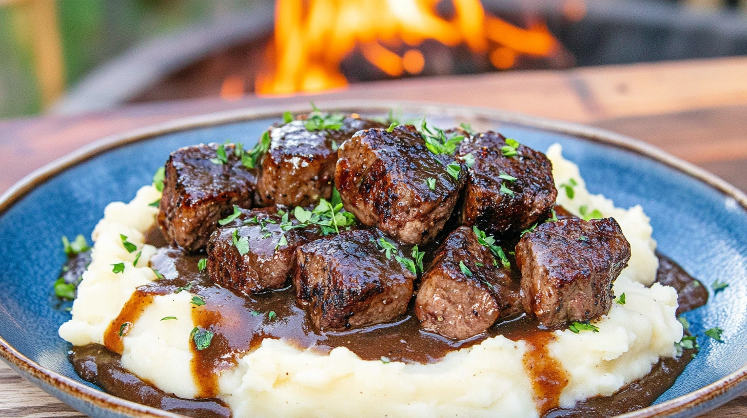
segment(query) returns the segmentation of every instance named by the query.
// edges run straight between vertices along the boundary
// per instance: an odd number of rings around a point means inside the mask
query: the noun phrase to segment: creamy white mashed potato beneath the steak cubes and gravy
[[[565,368],[568,385],[560,405],[571,407],[590,396],[606,396],[641,378],[661,357],[675,355],[682,325],[675,316],[677,293],[654,284],[657,258],[651,225],[639,206],[616,208],[610,199],[586,190],[578,167],[551,146],[548,157],[560,189],[558,202],[573,213],[599,210],[615,217],[630,241],[629,266],[615,282],[624,305],[595,325],[599,332],[555,331],[548,351]],[[571,178],[573,182],[571,182]],[[572,185],[573,198],[565,193]],[[148,206],[160,194],[143,187],[132,202],[115,202],[96,226],[93,262],[83,275],[72,319],[60,328],[75,345],[102,343],[103,335],[135,288],[155,279],[147,261],[155,249],[143,245],[143,232],[155,222]],[[123,249],[120,234],[142,250]],[[115,274],[111,264],[125,263]],[[164,316],[176,320],[161,321]],[[123,338],[123,365],[177,396],[196,396],[190,361],[188,293],[156,296]],[[281,340],[264,340],[219,378],[220,395],[234,417],[538,417],[532,382],[524,369],[524,341],[493,337],[451,352],[436,364],[363,361],[340,347],[329,355],[302,351]]]

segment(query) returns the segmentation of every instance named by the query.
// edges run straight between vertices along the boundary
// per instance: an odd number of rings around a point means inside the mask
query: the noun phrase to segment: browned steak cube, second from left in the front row
[[[379,231],[329,235],[300,246],[296,257],[297,298],[320,330],[391,322],[407,311],[415,273]]]

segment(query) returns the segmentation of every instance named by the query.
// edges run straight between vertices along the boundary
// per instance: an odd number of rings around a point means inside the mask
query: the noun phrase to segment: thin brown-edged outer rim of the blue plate
[[[527,128],[537,128],[545,131],[554,131],[560,134],[568,134],[583,140],[589,140],[601,143],[606,146],[613,146],[618,149],[624,149],[633,152],[666,166],[672,167],[697,181],[718,190],[725,196],[730,196],[738,205],[747,210],[747,196],[736,187],[731,186],[716,175],[706,172],[697,166],[687,163],[657,149],[648,143],[635,140],[624,135],[615,134],[610,131],[604,131],[598,128],[592,128],[585,125],[578,125],[571,122],[560,122],[549,119],[527,116],[520,113],[512,113],[503,110],[493,110],[484,107],[467,107],[447,104],[433,104],[430,102],[394,102],[394,101],[371,101],[371,100],[347,100],[347,101],[328,101],[318,102],[318,107],[325,110],[347,110],[359,113],[385,113],[391,108],[401,108],[407,113],[427,113],[441,116],[465,117],[470,119],[486,118],[495,122],[505,122],[515,125],[522,125]],[[0,196],[0,213],[5,212],[12,207],[15,202],[34,190],[39,184],[47,181],[49,178],[58,175],[78,163],[108,152],[120,146],[129,143],[135,143],[147,140],[162,134],[169,134],[177,131],[187,131],[193,128],[202,128],[211,125],[223,125],[231,122],[241,122],[264,117],[279,117],[286,110],[291,112],[308,111],[309,105],[298,103],[296,105],[252,107],[241,110],[231,110],[228,112],[211,113],[203,116],[192,116],[184,119],[176,119],[172,122],[166,122],[159,125],[153,125],[146,128],[138,128],[127,131],[123,134],[115,134],[102,138],[65,157],[61,157],[52,163],[43,166],[40,169],[27,175],[18,183],[10,187]],[[67,378],[51,369],[40,366],[31,359],[25,357],[7,341],[0,337],[0,358],[3,358],[13,369],[20,372],[32,383],[41,387],[53,396],[58,397],[63,402],[72,405],[83,413],[96,413],[97,410],[108,411],[112,416],[117,417],[181,417],[157,408],[147,407],[135,402],[126,401],[116,396],[96,390],[93,387],[81,384],[71,378]],[[620,418],[648,418],[648,417],[678,417],[688,418],[695,417],[709,411],[713,408],[723,405],[731,399],[739,396],[747,390],[747,364],[743,365],[736,372],[721,378],[705,387],[701,387],[684,396],[642,408],[628,414],[619,416]],[[82,401],[82,402],[81,402]]]

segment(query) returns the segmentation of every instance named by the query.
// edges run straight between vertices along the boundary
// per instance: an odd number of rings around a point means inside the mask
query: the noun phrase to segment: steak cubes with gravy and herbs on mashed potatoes
[[[425,119],[315,109],[177,149],[93,241],[60,279],[76,372],[191,417],[622,414],[707,302],[560,145]]]

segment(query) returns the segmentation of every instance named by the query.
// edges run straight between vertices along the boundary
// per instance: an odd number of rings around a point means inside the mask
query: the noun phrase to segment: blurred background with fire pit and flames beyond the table
[[[0,0],[0,118],[746,54],[747,0]]]

